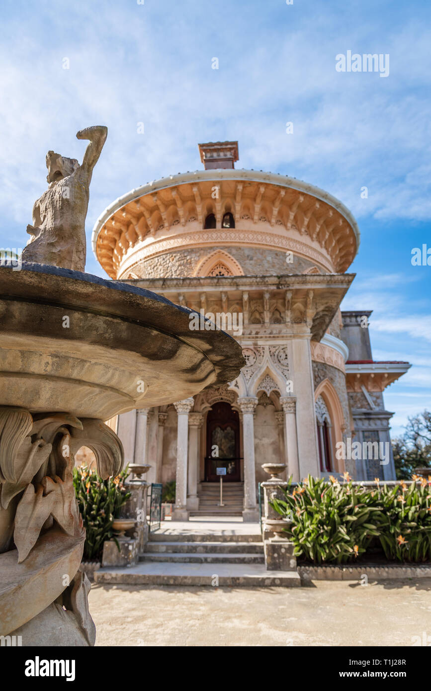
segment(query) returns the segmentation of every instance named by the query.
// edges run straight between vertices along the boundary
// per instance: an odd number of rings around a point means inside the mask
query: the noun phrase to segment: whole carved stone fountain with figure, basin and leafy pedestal
[[[94,645],[74,454],[99,475],[123,449],[104,420],[191,397],[236,379],[240,346],[189,330],[190,310],[84,272],[89,184],[106,127],[81,165],[53,151],[33,208],[21,270],[0,267],[0,635],[22,645]]]

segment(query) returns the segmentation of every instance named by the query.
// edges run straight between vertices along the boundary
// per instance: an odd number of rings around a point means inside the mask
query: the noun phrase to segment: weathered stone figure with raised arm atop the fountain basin
[[[78,139],[90,140],[82,165],[75,158],[48,151],[49,187],[33,207],[33,225],[27,226],[31,237],[23,249],[22,261],[84,271],[91,176],[107,134],[108,129],[99,125],[77,133]]]

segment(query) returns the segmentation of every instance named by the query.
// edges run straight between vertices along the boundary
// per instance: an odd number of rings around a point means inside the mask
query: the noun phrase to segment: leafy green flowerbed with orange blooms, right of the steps
[[[415,478],[415,476],[414,476]],[[431,488],[416,478],[408,488],[375,488],[344,484],[309,475],[284,500],[271,506],[292,523],[287,529],[295,554],[316,562],[355,560],[379,540],[387,559],[425,561],[431,558]]]

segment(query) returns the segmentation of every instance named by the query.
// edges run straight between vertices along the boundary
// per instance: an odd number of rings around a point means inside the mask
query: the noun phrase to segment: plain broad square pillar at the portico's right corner
[[[314,381],[309,336],[291,339],[289,368],[296,401],[296,436],[298,439],[299,475],[320,476],[317,447]],[[299,479],[298,475],[298,479]]]

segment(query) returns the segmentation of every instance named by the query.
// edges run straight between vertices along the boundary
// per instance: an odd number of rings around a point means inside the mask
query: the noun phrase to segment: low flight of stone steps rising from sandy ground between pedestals
[[[296,570],[266,570],[257,531],[151,533],[137,565],[100,569],[95,580],[128,585],[300,586]]]

